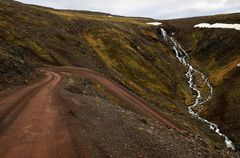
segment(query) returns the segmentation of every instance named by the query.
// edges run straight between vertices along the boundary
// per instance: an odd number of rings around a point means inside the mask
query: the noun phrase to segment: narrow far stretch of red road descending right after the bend
[[[87,69],[81,69],[81,68],[74,68],[74,67],[64,67],[59,69],[57,68],[55,71],[59,72],[68,72],[72,74],[78,74],[84,78],[88,78],[91,80],[94,80],[110,90],[113,94],[117,95],[124,101],[128,102],[130,105],[133,105],[132,109],[134,109],[138,113],[142,113],[156,121],[163,122],[167,126],[171,128],[175,128],[177,130],[180,130],[180,126],[177,125],[175,122],[171,121],[170,119],[166,118],[164,114],[160,114],[160,112],[154,111],[148,103],[146,103],[143,99],[140,97],[133,95],[132,93],[128,92],[125,88],[120,86],[114,81],[111,81],[104,76],[97,74],[94,71],[90,71]]]

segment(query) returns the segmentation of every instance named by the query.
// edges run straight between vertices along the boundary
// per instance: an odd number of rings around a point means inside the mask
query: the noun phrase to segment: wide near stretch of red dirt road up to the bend
[[[1,158],[76,157],[53,96],[61,77],[53,72],[46,76],[41,83],[1,99],[1,114],[9,112],[1,123]]]

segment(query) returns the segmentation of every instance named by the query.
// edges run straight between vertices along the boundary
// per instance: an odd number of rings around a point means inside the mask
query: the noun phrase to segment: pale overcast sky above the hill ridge
[[[57,9],[157,19],[240,12],[240,0],[18,0]]]

